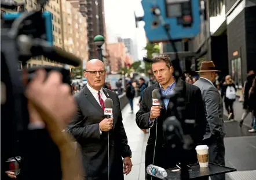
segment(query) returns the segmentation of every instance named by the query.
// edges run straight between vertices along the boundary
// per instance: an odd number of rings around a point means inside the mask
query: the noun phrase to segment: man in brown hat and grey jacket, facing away
[[[194,85],[200,88],[206,107],[207,125],[203,141],[209,146],[209,162],[225,165],[223,103],[220,92],[213,84],[217,72],[220,71],[215,70],[213,61],[203,61],[198,71],[200,78]],[[225,179],[225,174],[211,179]]]

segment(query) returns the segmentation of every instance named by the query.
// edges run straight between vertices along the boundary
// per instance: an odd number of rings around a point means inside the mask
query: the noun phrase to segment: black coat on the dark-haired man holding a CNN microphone
[[[185,97],[185,118],[195,119],[193,128],[189,129],[195,145],[198,145],[203,140],[203,134],[206,129],[206,117],[204,113],[204,106],[200,89],[192,84],[185,83],[182,89],[182,94]],[[150,129],[148,138],[148,145],[145,152],[145,168],[149,164],[155,164],[163,168],[175,167],[177,157],[181,152],[169,146],[169,141],[164,137],[163,122],[167,117],[174,115],[170,110],[171,101],[167,106],[161,110],[160,117],[158,117],[152,126],[149,126],[149,114],[152,107],[152,91],[159,88],[159,83],[152,85],[145,89],[140,103],[140,110],[136,114],[136,123],[140,129]],[[154,151],[155,149],[155,151]],[[155,154],[155,158],[154,157]],[[196,163],[195,147],[185,153],[187,163]]]

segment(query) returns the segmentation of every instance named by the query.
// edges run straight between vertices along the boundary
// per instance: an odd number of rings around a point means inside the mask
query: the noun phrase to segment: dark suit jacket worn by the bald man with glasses
[[[114,103],[113,128],[109,131],[111,175],[114,174],[117,179],[123,179],[122,156],[123,158],[131,156],[131,150],[123,128],[120,102],[115,92],[105,88],[103,92]],[[104,175],[108,174],[108,136],[107,132],[100,134],[99,127],[99,123],[105,118],[104,111],[87,86],[76,93],[75,100],[78,110],[75,118],[68,125],[68,132],[81,145],[86,179],[90,179],[88,177],[104,179],[106,178]]]

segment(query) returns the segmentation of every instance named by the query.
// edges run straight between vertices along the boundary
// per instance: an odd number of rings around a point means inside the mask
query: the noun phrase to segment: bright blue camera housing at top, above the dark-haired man
[[[162,25],[152,28],[152,22],[156,20],[156,17],[152,14],[152,6],[158,6],[162,14],[164,22],[170,25],[169,33],[173,40],[180,40],[185,38],[192,38],[198,35],[200,32],[200,5],[198,0],[190,0],[192,9],[193,23],[191,27],[182,27],[178,23],[176,17],[167,17],[166,12],[166,0],[142,0],[141,4],[144,10],[144,17],[142,20],[145,21],[145,33],[149,42],[166,42],[168,37]]]

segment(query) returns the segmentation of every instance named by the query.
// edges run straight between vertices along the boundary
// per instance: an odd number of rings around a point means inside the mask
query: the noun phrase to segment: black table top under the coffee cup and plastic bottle
[[[203,177],[210,177],[212,175],[218,175],[218,174],[225,174],[225,173],[231,173],[233,171],[236,171],[235,168],[221,166],[218,164],[210,163],[209,167],[201,167],[199,166],[199,163],[191,164],[189,165],[191,167],[191,170],[189,171],[189,178],[190,179],[201,179]],[[181,177],[181,171],[175,171],[178,170],[177,167],[167,169],[167,177],[164,178],[166,180],[180,180]]]

